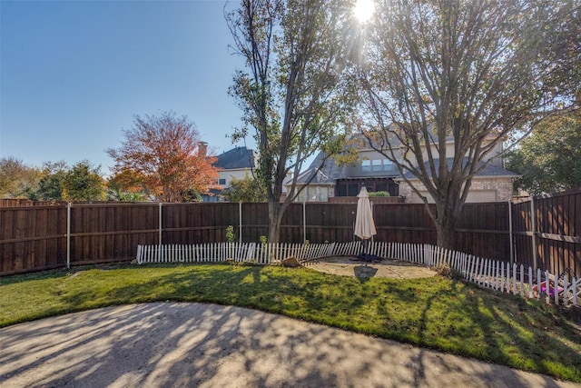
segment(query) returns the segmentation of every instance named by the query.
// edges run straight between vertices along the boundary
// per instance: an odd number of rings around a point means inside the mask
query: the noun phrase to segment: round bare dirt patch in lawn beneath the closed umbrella
[[[354,256],[332,256],[303,263],[306,268],[327,274],[356,276],[359,278],[387,277],[392,279],[418,279],[431,277],[436,272],[420,264],[396,259],[381,259],[368,263]]]

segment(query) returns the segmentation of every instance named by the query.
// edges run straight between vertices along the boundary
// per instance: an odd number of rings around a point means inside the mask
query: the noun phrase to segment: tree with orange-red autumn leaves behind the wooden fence
[[[136,115],[132,129],[123,134],[122,146],[107,150],[115,162],[113,172],[133,171],[158,200],[182,202],[185,193],[214,187],[215,158],[206,154],[205,144],[200,146],[200,134],[186,116]]]

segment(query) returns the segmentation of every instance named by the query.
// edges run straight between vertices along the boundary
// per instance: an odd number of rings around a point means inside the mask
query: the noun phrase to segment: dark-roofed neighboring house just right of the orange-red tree
[[[212,189],[212,195],[204,195],[203,202],[218,202],[222,190],[228,190],[232,178],[243,179],[247,174],[252,176],[252,170],[257,165],[257,154],[246,147],[235,147],[216,156],[213,166],[218,167],[220,176],[217,184],[222,189]]]

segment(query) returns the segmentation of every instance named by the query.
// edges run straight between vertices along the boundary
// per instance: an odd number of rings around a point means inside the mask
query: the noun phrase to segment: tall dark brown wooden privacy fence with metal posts
[[[581,276],[581,216],[576,213],[581,190],[531,202],[466,204],[454,249],[552,274],[569,268]],[[425,205],[372,208],[375,241],[436,244],[436,228]],[[291,204],[282,218],[280,241],[352,242],[356,211],[357,204]],[[268,235],[268,222],[263,203],[5,207],[0,208],[0,274],[129,261],[138,245],[218,244],[226,241],[229,225],[238,242],[256,243]]]

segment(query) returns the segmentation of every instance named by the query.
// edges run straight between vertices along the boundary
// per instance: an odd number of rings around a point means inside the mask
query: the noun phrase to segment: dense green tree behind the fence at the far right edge
[[[531,194],[581,187],[581,111],[549,117],[508,154],[521,174],[517,187]]]

